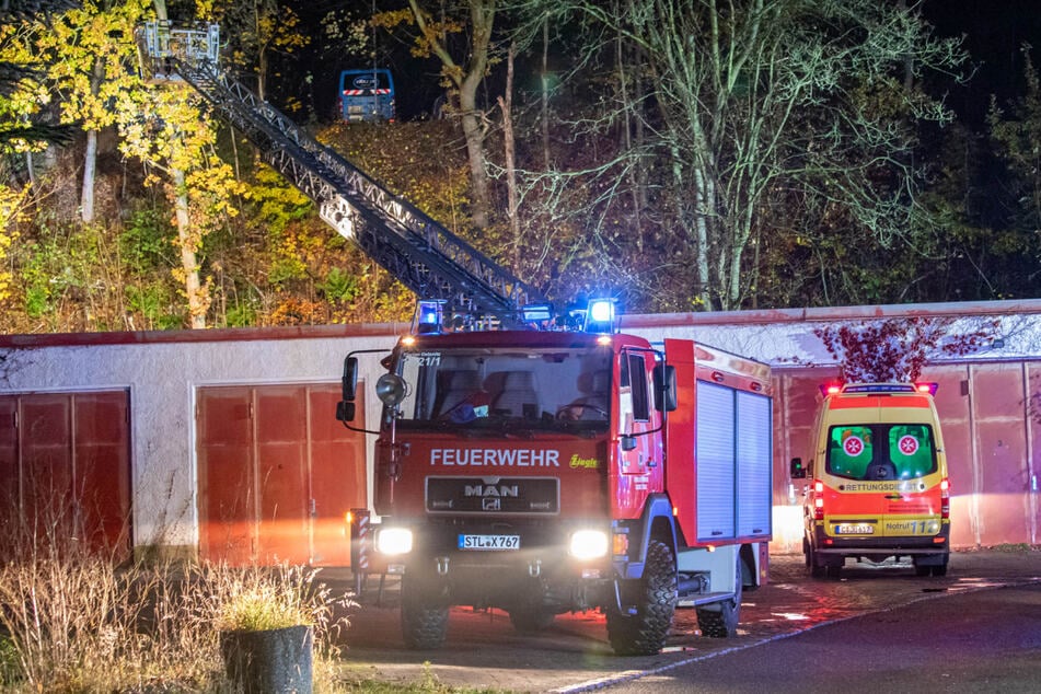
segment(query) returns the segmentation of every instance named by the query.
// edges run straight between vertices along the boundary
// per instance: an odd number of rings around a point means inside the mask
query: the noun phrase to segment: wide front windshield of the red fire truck
[[[610,350],[404,350],[397,373],[404,427],[604,429],[610,418]]]

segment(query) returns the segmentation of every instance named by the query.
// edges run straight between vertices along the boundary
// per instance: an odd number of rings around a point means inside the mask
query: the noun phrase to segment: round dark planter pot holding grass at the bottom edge
[[[311,694],[310,626],[221,632],[228,680],[244,694]]]

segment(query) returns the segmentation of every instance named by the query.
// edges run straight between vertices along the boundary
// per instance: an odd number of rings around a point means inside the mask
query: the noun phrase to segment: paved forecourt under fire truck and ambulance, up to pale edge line
[[[335,578],[335,574],[331,576]],[[366,606],[350,617],[344,670],[356,679],[406,682],[432,674],[450,686],[582,692],[615,683],[635,684],[671,669],[732,657],[720,653],[763,651],[764,644],[779,644],[802,632],[809,636],[859,615],[883,618],[906,605],[921,604],[928,610],[960,594],[1003,595],[1008,593],[1002,593],[1002,587],[1036,583],[1041,585],[1041,552],[1037,551],[953,553],[944,578],[917,577],[910,564],[887,563],[880,567],[847,566],[841,580],[807,577],[801,555],[775,556],[771,583],[744,594],[737,638],[699,636],[693,610],[681,610],[663,652],[621,658],[611,651],[604,620],[594,612],[562,615],[543,634],[522,636],[502,612],[463,608],[452,610],[443,648],[412,651],[402,645],[396,583],[389,581],[380,604],[374,604],[378,583],[370,581],[363,595]],[[802,667],[805,656],[778,672],[795,673]]]

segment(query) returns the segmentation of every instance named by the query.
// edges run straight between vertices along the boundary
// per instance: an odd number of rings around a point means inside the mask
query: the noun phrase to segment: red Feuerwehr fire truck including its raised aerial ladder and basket
[[[375,544],[403,574],[406,643],[440,645],[460,604],[501,608],[522,631],[599,609],[620,653],[657,652],[678,606],[732,635],[742,590],[766,580],[768,368],[621,334],[612,302],[552,311],[221,70],[219,36],[149,23],[143,68],[195,88],[324,221],[436,300],[377,383]],[[507,329],[476,329],[489,326]],[[357,379],[351,354],[345,424]]]

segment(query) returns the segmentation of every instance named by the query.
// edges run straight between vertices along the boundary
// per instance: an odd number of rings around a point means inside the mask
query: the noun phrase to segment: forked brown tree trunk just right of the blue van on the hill
[[[414,24],[418,34],[414,37],[414,55],[436,57],[441,62],[441,76],[459,100],[454,109],[463,126],[466,153],[470,162],[473,208],[471,217],[478,229],[489,223],[491,198],[488,188],[488,170],[485,162],[484,141],[488,124],[485,112],[477,105],[477,89],[491,63],[491,33],[495,25],[496,0],[465,0],[440,3],[439,12],[429,9],[433,2],[408,0],[410,14],[383,12],[373,18],[378,26],[393,28],[403,23]],[[467,41],[455,55],[451,38],[465,31]],[[458,57],[462,54],[464,57]]]

